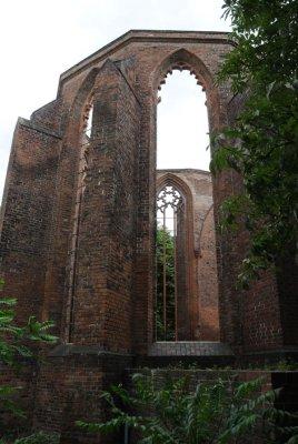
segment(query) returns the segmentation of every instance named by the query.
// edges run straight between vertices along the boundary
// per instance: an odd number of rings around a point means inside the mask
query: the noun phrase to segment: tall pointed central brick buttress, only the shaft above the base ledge
[[[93,91],[77,252],[71,342],[131,349],[138,100],[111,62]]]

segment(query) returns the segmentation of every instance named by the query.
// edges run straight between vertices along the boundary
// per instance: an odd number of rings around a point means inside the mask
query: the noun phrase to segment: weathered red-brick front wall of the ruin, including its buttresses
[[[240,104],[230,101],[228,85],[213,82],[231,48],[227,39],[216,32],[130,31],[63,73],[57,99],[30,121],[18,122],[0,246],[6,292],[19,299],[19,319],[53,319],[61,343],[148,354],[153,341],[157,90],[172,69],[189,69],[206,89],[210,131],[232,121]],[[91,100],[93,133],[78,214],[82,130]],[[229,171],[213,180],[216,223],[220,202],[240,186]],[[208,216],[205,221],[208,239]],[[290,287],[285,278],[266,274],[247,294],[235,289],[247,244],[241,231],[216,235],[221,341],[237,353],[292,347],[298,337],[295,281]],[[88,365],[78,356],[52,360],[37,380],[34,415],[38,425],[50,421],[57,430],[62,417],[67,442],[74,434],[76,384],[89,393],[101,376],[93,357]],[[119,375],[112,364],[102,372],[101,387],[109,375]],[[88,405],[83,398],[82,412]]]

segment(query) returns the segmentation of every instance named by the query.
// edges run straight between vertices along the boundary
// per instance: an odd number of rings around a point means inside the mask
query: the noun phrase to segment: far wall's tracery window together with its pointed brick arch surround
[[[159,174],[156,340],[189,341],[193,339],[193,295],[197,293],[193,281],[192,194],[187,183],[177,174],[162,173],[162,170]]]

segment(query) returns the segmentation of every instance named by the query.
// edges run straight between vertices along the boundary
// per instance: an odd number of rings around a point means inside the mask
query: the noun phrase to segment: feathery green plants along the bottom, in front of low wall
[[[292,415],[274,407],[278,391],[261,393],[262,381],[237,384],[235,381],[205,382],[191,389],[189,377],[163,383],[152,375],[135,374],[131,394],[122,385],[112,386],[102,398],[111,420],[102,423],[77,422],[87,432],[111,434],[123,427],[136,431],[139,444],[228,444],[242,443],[249,434],[275,442],[298,440],[298,427],[277,427]]]

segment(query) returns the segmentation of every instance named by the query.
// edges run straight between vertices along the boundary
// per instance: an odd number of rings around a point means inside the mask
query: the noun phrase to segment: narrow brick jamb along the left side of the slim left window
[[[56,321],[57,335],[61,336],[62,340],[66,340],[64,312],[67,311],[66,300],[69,290],[69,250],[77,196],[83,110],[97,73],[98,69],[90,70],[70,109],[67,103],[64,104],[64,131],[56,179],[56,196],[42,306],[43,319]]]

